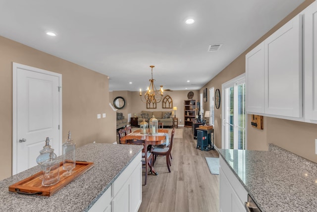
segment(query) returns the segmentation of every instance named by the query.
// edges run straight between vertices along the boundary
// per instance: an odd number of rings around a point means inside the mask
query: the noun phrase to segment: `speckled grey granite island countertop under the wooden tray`
[[[28,196],[8,191],[10,185],[39,172],[39,166],[4,179],[0,181],[0,211],[88,211],[142,148],[140,145],[109,143],[89,143],[76,148],[76,160],[94,162],[94,167],[51,197]]]

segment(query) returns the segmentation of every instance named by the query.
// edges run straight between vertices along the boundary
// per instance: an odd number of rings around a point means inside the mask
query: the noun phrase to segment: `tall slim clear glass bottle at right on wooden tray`
[[[76,167],[75,159],[75,146],[76,143],[71,139],[71,133],[68,131],[67,140],[63,143],[63,169],[66,172],[63,176],[71,175],[71,171]]]

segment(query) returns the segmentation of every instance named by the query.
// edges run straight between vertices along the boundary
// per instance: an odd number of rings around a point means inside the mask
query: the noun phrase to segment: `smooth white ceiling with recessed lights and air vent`
[[[197,90],[303,1],[0,0],[0,35],[108,75],[110,91],[145,90],[150,65],[157,88]]]

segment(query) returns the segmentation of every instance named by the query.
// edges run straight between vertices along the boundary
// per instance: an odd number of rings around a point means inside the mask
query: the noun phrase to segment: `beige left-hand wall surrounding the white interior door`
[[[12,62],[62,74],[63,141],[68,130],[77,147],[116,141],[106,75],[0,37],[0,180],[11,176],[12,167]],[[106,118],[97,119],[98,113]]]

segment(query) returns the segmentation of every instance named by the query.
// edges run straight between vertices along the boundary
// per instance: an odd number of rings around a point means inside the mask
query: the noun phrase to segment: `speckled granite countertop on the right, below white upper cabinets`
[[[269,151],[217,149],[262,212],[316,212],[317,164],[269,144]]]

